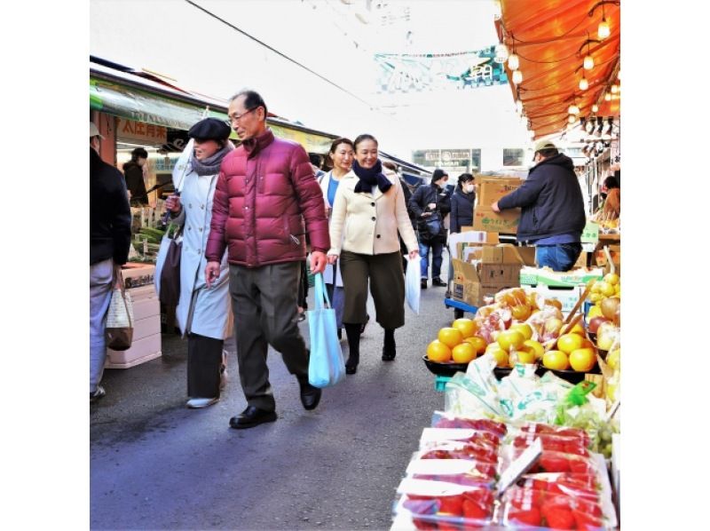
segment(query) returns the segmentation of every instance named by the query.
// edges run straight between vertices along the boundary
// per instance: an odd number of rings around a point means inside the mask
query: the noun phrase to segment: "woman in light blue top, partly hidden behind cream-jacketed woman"
[[[323,200],[326,205],[326,215],[328,223],[333,213],[335,203],[335,193],[340,181],[351,170],[355,146],[351,139],[335,139],[330,145],[327,156],[333,164],[333,169],[324,173],[319,179],[320,190],[323,193]],[[335,308],[335,321],[338,327],[338,337],[343,337],[343,274],[337,262],[328,264],[323,273],[323,280],[326,282],[327,296]]]

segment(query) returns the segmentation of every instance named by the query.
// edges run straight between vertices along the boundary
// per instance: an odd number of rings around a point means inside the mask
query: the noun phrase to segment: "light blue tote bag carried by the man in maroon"
[[[313,280],[315,309],[308,310],[308,330],[311,333],[308,382],[322,388],[343,380],[345,361],[335,325],[335,310],[330,306],[323,275],[317,273]]]

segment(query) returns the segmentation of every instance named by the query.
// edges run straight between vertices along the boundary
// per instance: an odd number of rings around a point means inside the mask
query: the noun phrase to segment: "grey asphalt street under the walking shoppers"
[[[234,357],[222,399],[196,410],[185,408],[180,337],[163,335],[161,358],[106,369],[106,397],[91,405],[91,528],[388,529],[422,428],[444,406],[422,361],[454,319],[444,293],[422,290],[418,316],[406,308],[389,363],[370,300],[358,373],[325,389],[314,411],[270,350],[279,419],[249,430],[228,424],[246,407]],[[307,321],[300,326],[308,342]],[[344,337],[341,345],[347,358]]]

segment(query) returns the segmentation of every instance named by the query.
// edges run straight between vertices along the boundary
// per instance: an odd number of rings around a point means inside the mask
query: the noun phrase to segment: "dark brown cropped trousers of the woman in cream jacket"
[[[367,281],[375,300],[376,321],[383,329],[405,324],[405,277],[399,251],[361,255],[343,250],[340,255],[345,307],[343,323],[367,321]]]

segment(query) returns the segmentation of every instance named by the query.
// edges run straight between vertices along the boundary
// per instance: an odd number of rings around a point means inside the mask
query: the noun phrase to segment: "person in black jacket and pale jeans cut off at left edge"
[[[130,206],[121,172],[101,160],[99,128],[89,123],[89,400],[106,395],[106,313],[130,249]]]

